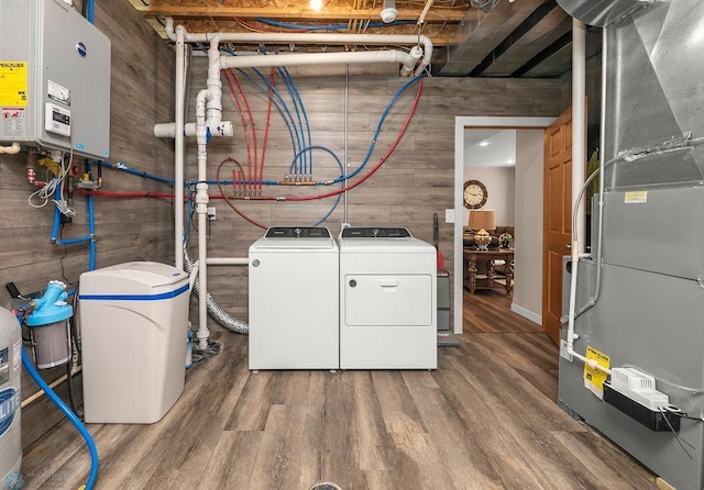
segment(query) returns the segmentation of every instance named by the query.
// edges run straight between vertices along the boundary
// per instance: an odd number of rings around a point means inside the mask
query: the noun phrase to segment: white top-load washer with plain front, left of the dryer
[[[250,246],[250,369],[338,369],[338,245],[326,227],[271,227]]]

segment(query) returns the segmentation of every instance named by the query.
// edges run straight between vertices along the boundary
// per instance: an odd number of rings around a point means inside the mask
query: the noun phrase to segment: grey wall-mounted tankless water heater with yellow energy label
[[[0,144],[110,155],[110,41],[59,0],[0,0]]]

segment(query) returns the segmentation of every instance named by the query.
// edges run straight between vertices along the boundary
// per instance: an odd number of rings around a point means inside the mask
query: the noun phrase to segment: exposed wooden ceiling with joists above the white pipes
[[[557,78],[571,69],[572,19],[556,0],[130,0],[164,37],[170,16],[188,32],[424,34],[433,45],[431,74],[452,77]],[[395,21],[382,11],[393,5]],[[392,11],[393,13],[393,11]],[[237,45],[237,51],[336,52],[384,46]],[[386,46],[392,47],[392,46]],[[394,46],[395,48],[397,46]],[[587,30],[587,57],[601,30]]]

